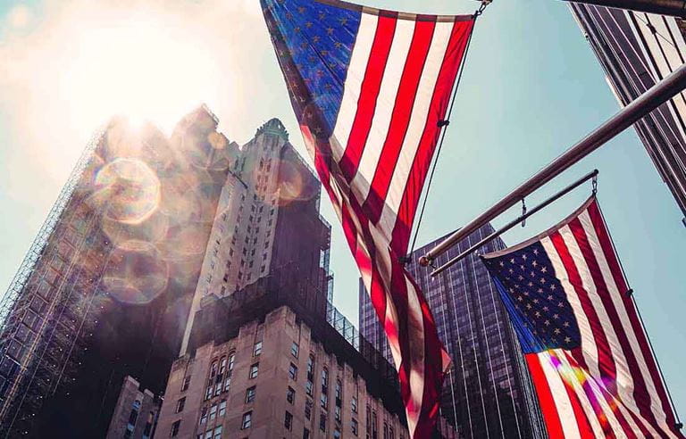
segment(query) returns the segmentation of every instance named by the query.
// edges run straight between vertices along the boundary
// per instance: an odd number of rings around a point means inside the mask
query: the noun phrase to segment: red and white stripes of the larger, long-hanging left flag
[[[414,437],[431,435],[449,358],[400,258],[472,27],[363,12],[333,135],[301,126],[388,335]]]

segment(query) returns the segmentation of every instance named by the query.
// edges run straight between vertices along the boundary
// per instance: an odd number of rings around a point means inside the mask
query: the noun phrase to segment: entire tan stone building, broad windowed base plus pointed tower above
[[[320,187],[279,120],[240,148],[155,435],[408,438],[395,369],[330,303]]]

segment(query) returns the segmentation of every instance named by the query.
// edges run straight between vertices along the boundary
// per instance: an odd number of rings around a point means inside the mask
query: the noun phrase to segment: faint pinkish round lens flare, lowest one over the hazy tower
[[[155,245],[128,241],[114,248],[103,276],[103,286],[118,302],[148,303],[163,292],[169,267]]]

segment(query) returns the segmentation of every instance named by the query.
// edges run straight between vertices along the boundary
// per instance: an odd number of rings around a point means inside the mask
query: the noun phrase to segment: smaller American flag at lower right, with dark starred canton
[[[683,437],[595,197],[483,261],[550,437]]]

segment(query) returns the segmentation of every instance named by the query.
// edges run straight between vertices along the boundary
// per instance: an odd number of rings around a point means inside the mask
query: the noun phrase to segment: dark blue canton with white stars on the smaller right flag
[[[581,345],[572,306],[540,242],[482,261],[498,286],[524,353]]]

